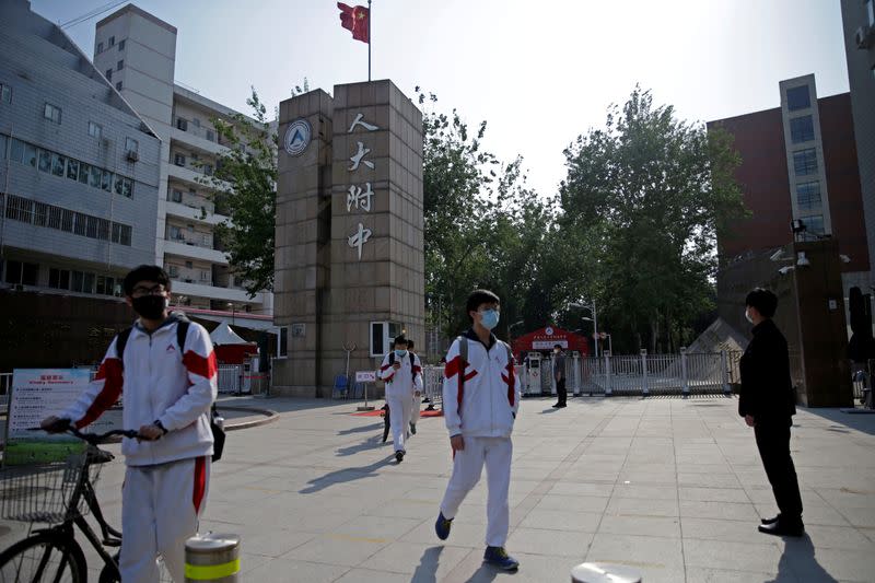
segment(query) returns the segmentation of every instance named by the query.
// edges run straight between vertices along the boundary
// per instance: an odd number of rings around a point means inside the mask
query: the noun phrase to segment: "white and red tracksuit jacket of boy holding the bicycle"
[[[210,406],[217,396],[217,363],[203,326],[191,323],[180,357],[178,318],[171,316],[149,335],[133,325],[125,353],[117,355],[113,339],[97,375],[79,399],[59,417],[82,428],[97,419],[121,396],[125,429],[155,420],[168,431],[158,441],[125,439],[121,453],[128,466],[149,466],[212,455]],[[124,366],[122,366],[124,361]]]

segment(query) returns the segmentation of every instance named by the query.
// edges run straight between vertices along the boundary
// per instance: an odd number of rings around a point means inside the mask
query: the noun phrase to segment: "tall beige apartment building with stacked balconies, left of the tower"
[[[95,67],[163,140],[153,260],[173,279],[174,304],[238,322],[258,315],[249,324],[265,327],[272,294],[248,296],[215,235],[228,218],[209,182],[228,147],[213,119],[236,112],[175,81],[176,36],[171,24],[127,4],[97,23],[94,42]]]

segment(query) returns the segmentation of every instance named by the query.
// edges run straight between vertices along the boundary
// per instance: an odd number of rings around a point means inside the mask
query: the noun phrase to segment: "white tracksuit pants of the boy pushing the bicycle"
[[[197,534],[209,483],[210,456],[128,466],[121,490],[121,581],[159,581],[159,555],[173,580],[185,581],[185,541]]]

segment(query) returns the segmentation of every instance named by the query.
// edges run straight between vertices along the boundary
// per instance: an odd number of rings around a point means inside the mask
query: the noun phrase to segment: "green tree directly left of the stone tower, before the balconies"
[[[213,189],[217,211],[229,217],[217,225],[215,233],[231,268],[254,298],[273,289],[278,140],[255,88],[246,104],[253,118],[235,114],[213,119],[229,150],[219,155],[213,175],[201,182]]]

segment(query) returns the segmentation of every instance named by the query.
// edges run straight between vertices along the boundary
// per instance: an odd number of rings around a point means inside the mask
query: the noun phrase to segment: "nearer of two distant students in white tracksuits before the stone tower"
[[[392,441],[395,459],[401,463],[407,454],[405,442],[410,427],[410,404],[422,395],[422,364],[419,357],[407,351],[407,338],[395,338],[395,350],[383,358],[380,376],[386,383],[386,403],[389,406]]]

